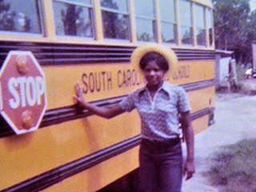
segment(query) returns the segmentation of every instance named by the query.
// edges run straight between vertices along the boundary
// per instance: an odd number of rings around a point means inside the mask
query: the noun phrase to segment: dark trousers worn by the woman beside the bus
[[[139,151],[142,190],[182,191],[182,146],[180,139],[150,142],[143,139]]]

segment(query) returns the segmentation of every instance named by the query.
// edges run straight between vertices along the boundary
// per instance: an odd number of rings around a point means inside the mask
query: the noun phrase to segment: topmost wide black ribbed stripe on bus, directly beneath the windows
[[[135,47],[71,45],[39,42],[0,42],[0,65],[10,50],[30,50],[40,65],[63,65],[79,63],[130,62]],[[178,60],[215,59],[214,50],[174,49]]]

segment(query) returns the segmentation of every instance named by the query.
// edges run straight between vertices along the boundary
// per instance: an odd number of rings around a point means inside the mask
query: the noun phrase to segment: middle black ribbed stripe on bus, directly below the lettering
[[[192,90],[201,90],[206,87],[214,86],[214,79],[210,79],[202,82],[193,82],[189,84],[181,85],[187,92]],[[114,106],[118,102],[121,102],[122,99],[126,98],[126,95],[122,95],[117,98],[107,98],[104,100],[100,100],[97,102],[92,102],[97,106]],[[42,118],[42,122],[39,128],[43,128],[46,126],[56,125],[62,122],[68,122],[78,118],[86,118],[92,115],[92,113],[88,110],[79,110],[77,106],[64,106],[52,110],[46,110],[45,115]],[[10,128],[10,126],[5,122],[5,120],[0,117],[0,122],[2,122],[1,130],[0,130],[0,138],[7,137],[15,134],[14,131]]]

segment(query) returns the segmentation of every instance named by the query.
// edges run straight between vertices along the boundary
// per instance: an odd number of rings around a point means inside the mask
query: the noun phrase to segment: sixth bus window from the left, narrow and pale
[[[193,22],[191,2],[179,1],[182,44],[193,45]]]

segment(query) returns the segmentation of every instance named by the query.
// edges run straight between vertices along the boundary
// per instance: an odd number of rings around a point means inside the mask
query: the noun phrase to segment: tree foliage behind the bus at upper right
[[[250,0],[214,0],[216,49],[234,50],[237,60],[250,62],[251,44],[256,40],[256,11]]]

